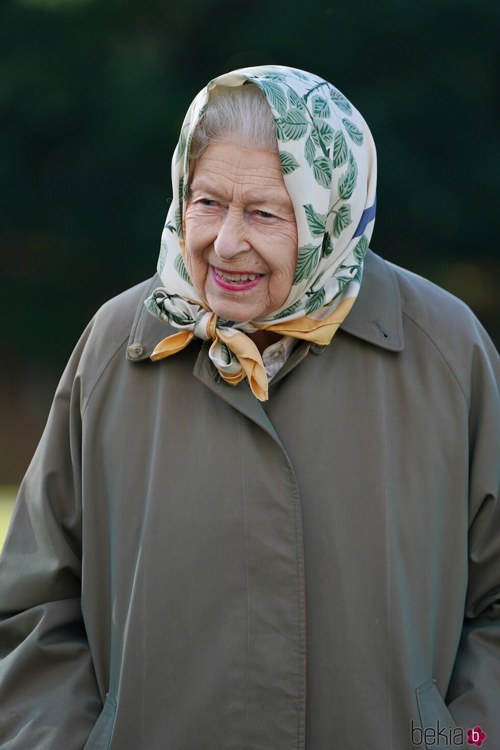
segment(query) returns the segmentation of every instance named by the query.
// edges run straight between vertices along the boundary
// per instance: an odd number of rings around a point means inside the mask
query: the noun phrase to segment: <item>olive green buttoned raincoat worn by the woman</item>
[[[159,283],[88,324],[22,481],[1,750],[500,747],[499,359],[469,308],[369,251],[261,403],[210,341],[151,362]]]

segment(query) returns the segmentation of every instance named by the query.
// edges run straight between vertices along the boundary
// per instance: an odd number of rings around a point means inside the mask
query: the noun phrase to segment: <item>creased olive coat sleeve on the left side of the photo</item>
[[[93,320],[58,384],[1,551],[1,750],[82,750],[103,707],[81,610],[76,371]]]

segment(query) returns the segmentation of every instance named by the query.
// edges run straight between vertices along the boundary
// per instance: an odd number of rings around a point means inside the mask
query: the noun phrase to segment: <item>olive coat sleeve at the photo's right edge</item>
[[[469,410],[469,575],[446,702],[458,726],[480,726],[493,748],[500,747],[500,367],[478,329]]]

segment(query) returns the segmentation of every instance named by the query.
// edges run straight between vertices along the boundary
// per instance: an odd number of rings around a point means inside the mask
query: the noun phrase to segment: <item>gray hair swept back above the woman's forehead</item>
[[[190,144],[190,172],[205,148],[216,141],[235,141],[244,148],[278,151],[276,125],[268,100],[255,83],[214,86]]]

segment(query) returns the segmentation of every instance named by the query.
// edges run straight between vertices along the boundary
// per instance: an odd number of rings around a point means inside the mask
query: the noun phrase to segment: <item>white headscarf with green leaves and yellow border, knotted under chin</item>
[[[255,83],[276,123],[283,178],[298,229],[298,257],[289,296],[262,318],[219,317],[193,286],[184,264],[184,214],[189,150],[214,86]],[[232,386],[245,376],[259,401],[268,378],[246,335],[259,329],[329,344],[355,302],[376,208],[376,150],[364,118],[338,89],[318,76],[282,65],[241,68],[211,80],[191,103],[172,157],[173,199],[161,236],[157,272],[163,287],[148,311],[179,329],[157,344],[152,360],[171,356],[197,336],[212,340],[209,356]]]

